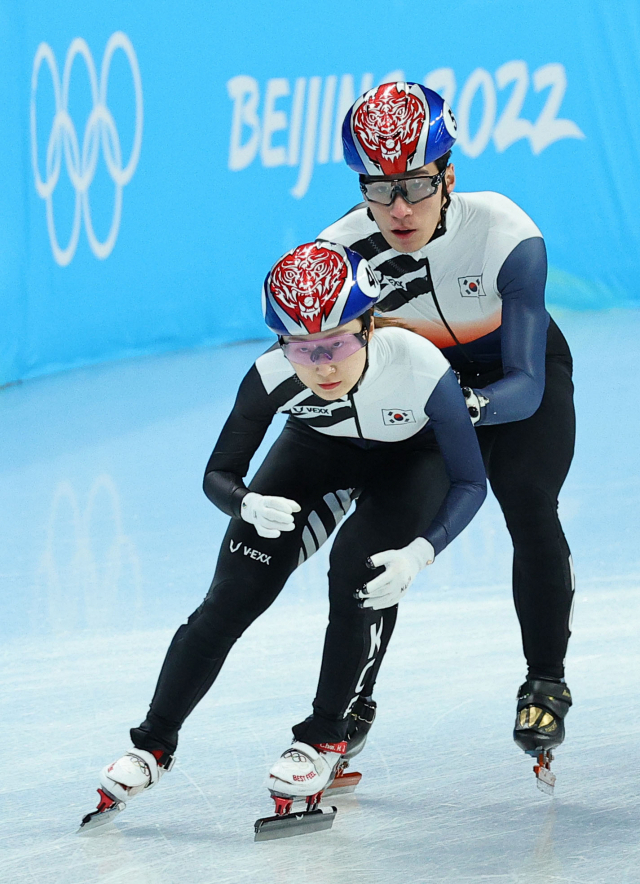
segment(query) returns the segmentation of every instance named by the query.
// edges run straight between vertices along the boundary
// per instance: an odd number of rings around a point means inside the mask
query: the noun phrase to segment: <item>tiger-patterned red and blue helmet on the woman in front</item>
[[[379,297],[368,261],[345,246],[319,241],[276,261],[262,287],[262,312],[277,335],[312,335],[356,319]]]

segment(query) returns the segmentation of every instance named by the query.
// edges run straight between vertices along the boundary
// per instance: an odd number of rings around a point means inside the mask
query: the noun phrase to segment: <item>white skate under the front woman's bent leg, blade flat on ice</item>
[[[296,742],[282,753],[269,771],[267,784],[276,805],[276,814],[256,820],[256,841],[331,828],[336,808],[324,811],[318,805],[346,749],[346,740],[316,746]],[[297,798],[304,798],[307,808],[294,814],[291,808]]]

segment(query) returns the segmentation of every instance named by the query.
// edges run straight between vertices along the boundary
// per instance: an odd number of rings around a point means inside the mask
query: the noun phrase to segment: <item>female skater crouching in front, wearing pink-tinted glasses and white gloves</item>
[[[365,685],[373,688],[398,602],[486,494],[453,371],[424,338],[374,332],[379,294],[368,262],[337,244],[298,246],[267,275],[263,310],[278,343],[242,381],[205,472],[207,497],[231,516],[213,582],[169,646],[147,717],[130,732],[133,748],[102,770],[100,804],[83,826],[105,822],[170,770],[183,722],[297,567],[316,501],[358,488],[331,550],[313,711],[269,772],[277,819],[298,819],[289,811],[299,797],[317,812],[348,753],[350,713]],[[277,413],[288,422],[247,487]]]

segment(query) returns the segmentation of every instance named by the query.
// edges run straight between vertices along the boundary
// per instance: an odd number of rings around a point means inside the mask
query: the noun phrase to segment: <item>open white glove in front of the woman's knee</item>
[[[356,592],[356,598],[364,599],[363,608],[391,608],[397,605],[416,578],[418,571],[431,565],[435,551],[424,537],[416,537],[402,549],[387,549],[371,556],[371,567],[382,568],[384,573],[374,577]]]

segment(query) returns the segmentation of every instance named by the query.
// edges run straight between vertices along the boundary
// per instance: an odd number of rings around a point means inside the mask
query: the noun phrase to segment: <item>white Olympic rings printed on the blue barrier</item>
[[[125,166],[122,163],[122,150],[120,137],[116,128],[111,111],[107,107],[107,91],[109,88],[109,72],[114,53],[121,49],[127,56],[133,86],[135,90],[136,122],[131,156]],[[71,68],[76,56],[81,56],[87,69],[93,109],[89,114],[87,125],[82,139],[82,150],[78,140],[78,133],[69,115],[69,82]],[[49,67],[53,82],[55,98],[55,116],[51,128],[51,134],[47,143],[46,175],[44,180],[40,176],[38,166],[38,142],[37,142],[37,119],[36,119],[36,93],[38,89],[38,74],[42,63]],[[96,67],[91,51],[85,40],[76,37],[67,51],[62,73],[62,84],[58,66],[53,50],[48,43],[41,43],[36,51],[31,75],[31,162],[38,195],[45,200],[47,206],[47,229],[53,257],[61,267],[66,267],[75,255],[80,238],[80,228],[84,218],[87,239],[91,251],[96,258],[106,258],[113,251],[118,238],[120,217],[122,214],[122,190],[131,181],[133,173],[140,158],[142,146],[142,80],[138,59],[131,41],[122,31],[116,31],[109,38],[100,71],[100,82],[96,74]],[[113,219],[106,239],[101,242],[95,234],[91,221],[91,206],[89,203],[89,188],[94,179],[98,165],[98,155],[102,147],[107,171],[115,185],[113,203]],[[65,247],[60,246],[55,228],[53,213],[53,193],[60,179],[62,169],[62,157],[64,154],[65,166],[69,180],[75,190],[75,209],[73,226],[69,242]]]

